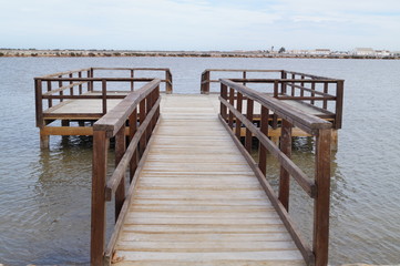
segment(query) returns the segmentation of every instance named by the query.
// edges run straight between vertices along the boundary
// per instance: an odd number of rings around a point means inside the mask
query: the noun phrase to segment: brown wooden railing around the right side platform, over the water
[[[218,80],[211,79],[212,72],[242,72],[243,78],[230,80],[244,85],[248,83],[261,84],[263,93],[279,100],[299,101],[318,111],[319,117],[331,121],[334,129],[341,129],[343,80],[285,70],[205,70],[202,74],[203,94],[209,93],[211,83],[218,82]],[[258,72],[270,76],[268,79],[248,79],[248,72]]]

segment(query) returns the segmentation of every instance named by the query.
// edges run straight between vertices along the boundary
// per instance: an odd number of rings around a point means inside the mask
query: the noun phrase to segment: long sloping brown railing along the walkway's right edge
[[[330,197],[330,141],[332,124],[319,117],[298,112],[288,104],[252,90],[232,80],[220,80],[220,115],[236,145],[256,173],[266,194],[289,231],[308,265],[325,266],[328,263],[329,197]],[[243,102],[247,101],[246,115]],[[254,102],[261,105],[260,126],[253,123]],[[270,113],[281,121],[280,149],[268,139]],[[246,129],[245,145],[240,142],[242,125]],[[291,130],[294,126],[316,137],[315,176],[308,177],[291,160]],[[259,141],[259,161],[252,155],[253,136]],[[267,152],[280,164],[278,195],[266,178]],[[314,198],[312,247],[307,244],[295,227],[289,215],[290,176]]]

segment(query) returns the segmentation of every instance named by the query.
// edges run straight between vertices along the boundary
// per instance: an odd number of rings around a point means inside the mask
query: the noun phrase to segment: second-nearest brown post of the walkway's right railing
[[[281,122],[280,151],[285,153],[286,156],[291,157],[291,124],[286,120]],[[289,192],[290,175],[284,166],[280,166],[278,198],[287,212],[289,212]]]

